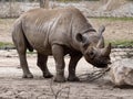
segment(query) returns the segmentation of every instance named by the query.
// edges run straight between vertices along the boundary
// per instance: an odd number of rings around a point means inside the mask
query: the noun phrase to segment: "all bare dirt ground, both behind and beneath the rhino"
[[[0,19],[0,42],[11,43],[11,25],[16,19]],[[90,19],[98,30],[101,24],[106,26],[105,40],[133,40],[132,21],[111,21]],[[53,82],[44,79],[37,67],[35,54],[28,55],[28,62],[33,79],[22,79],[22,70],[18,68],[19,59],[16,51],[0,51],[0,99],[133,99],[132,88],[114,88],[109,77],[88,82]],[[65,57],[65,76],[68,77],[69,57]],[[55,75],[52,57],[48,62],[50,72]],[[76,75],[91,73],[95,68],[82,58],[76,68]],[[61,90],[62,89],[62,90]],[[60,91],[61,90],[61,91]],[[59,92],[59,95],[58,95]],[[57,97],[55,97],[57,96]]]

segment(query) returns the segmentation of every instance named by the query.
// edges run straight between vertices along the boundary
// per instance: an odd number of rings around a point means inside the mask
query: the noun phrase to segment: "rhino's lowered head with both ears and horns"
[[[81,44],[81,51],[86,62],[99,68],[108,67],[108,64],[111,64],[111,43],[104,47],[104,38],[102,36],[104,30],[105,26],[101,26],[99,33],[92,31],[76,35],[76,40]]]

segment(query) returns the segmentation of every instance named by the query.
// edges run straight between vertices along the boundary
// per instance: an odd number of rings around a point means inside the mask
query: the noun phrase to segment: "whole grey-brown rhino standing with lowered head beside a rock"
[[[47,67],[49,55],[55,61],[57,75],[54,81],[63,82],[64,55],[70,54],[70,81],[78,81],[75,67],[82,56],[95,67],[106,67],[110,63],[111,44],[104,47],[102,33],[92,28],[83,14],[75,8],[34,9],[22,14],[13,25],[12,40],[17,47],[23,78],[32,78],[29,70],[25,52],[38,52],[38,66],[43,77],[51,78]]]

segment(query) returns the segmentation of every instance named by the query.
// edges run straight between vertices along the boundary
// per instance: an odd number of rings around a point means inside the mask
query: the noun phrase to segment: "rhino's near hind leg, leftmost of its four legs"
[[[12,40],[14,43],[14,46],[17,47],[18,54],[19,54],[19,59],[20,59],[20,66],[22,67],[23,70],[23,78],[33,78],[33,75],[30,73],[29,67],[28,67],[28,62],[27,62],[27,44],[25,44],[25,38],[22,34],[22,31],[17,28],[17,32],[12,32]]]

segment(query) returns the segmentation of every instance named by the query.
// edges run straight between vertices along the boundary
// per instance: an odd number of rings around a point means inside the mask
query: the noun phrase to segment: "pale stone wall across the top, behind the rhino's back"
[[[116,0],[115,0],[116,1]],[[50,2],[51,8],[64,8],[73,6],[80,9],[86,16],[133,16],[133,1],[123,0],[120,3],[105,3],[101,1],[81,2]],[[40,8],[39,2],[0,2],[0,18],[19,16],[29,9]]]

